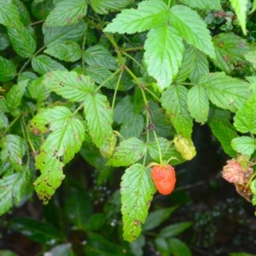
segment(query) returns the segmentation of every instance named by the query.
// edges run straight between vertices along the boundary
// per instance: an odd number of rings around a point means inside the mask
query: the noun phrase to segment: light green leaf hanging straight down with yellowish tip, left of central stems
[[[113,110],[107,97],[95,93],[87,95],[84,99],[84,115],[96,147],[110,147],[113,137]]]

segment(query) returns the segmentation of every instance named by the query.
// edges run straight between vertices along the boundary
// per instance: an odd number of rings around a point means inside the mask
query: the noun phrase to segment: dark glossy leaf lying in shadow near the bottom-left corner
[[[12,230],[15,230],[32,241],[48,245],[51,241],[65,240],[65,236],[54,226],[38,221],[33,218],[14,218],[11,223]]]

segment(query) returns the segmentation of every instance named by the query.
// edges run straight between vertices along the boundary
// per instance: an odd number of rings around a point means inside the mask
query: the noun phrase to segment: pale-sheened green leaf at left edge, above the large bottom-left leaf
[[[8,134],[0,141],[0,147],[2,148],[2,161],[9,161],[16,171],[21,171],[22,157],[26,148],[23,139],[17,135]]]

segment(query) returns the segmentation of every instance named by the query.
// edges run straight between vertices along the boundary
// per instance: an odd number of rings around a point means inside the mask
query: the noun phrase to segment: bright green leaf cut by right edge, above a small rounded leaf
[[[234,126],[242,133],[256,133],[256,94],[250,96],[234,117]]]

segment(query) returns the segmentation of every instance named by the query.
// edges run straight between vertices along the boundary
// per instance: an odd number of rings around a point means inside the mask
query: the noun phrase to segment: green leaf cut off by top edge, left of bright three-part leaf
[[[100,15],[107,15],[109,11],[124,9],[126,5],[134,0],[90,0],[91,8]]]

